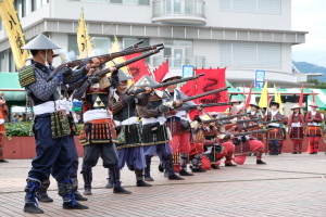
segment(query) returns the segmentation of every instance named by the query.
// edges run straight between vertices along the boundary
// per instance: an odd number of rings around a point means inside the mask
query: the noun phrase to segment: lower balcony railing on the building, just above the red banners
[[[193,65],[195,67],[204,67],[205,58],[204,56],[191,56],[191,58],[176,58],[176,56],[154,56],[153,66],[158,67],[166,59],[168,59],[168,67],[183,67],[183,65]]]

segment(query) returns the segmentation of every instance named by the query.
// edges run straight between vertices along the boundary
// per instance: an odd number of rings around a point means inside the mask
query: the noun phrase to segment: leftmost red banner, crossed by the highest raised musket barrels
[[[125,59],[130,60],[130,59],[137,58],[138,55],[141,55],[141,53],[126,55]],[[129,64],[128,68],[129,68],[130,75],[134,77],[135,82],[137,82],[145,75],[151,76],[148,65],[146,64],[146,59],[142,59],[140,61]]]

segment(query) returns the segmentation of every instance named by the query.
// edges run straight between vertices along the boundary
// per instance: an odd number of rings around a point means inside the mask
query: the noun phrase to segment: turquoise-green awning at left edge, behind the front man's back
[[[18,73],[0,73],[0,91],[8,104],[24,105],[26,102],[26,91],[20,85]]]

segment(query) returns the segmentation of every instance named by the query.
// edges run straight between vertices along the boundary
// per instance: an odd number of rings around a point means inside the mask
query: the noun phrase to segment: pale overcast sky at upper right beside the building
[[[292,30],[305,30],[305,43],[292,46],[292,60],[326,67],[326,0],[292,0]]]

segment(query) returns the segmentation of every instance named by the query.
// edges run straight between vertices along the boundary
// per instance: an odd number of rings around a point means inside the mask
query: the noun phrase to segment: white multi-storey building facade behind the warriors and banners
[[[306,75],[292,71],[291,47],[303,43],[308,33],[291,30],[291,0],[18,0],[15,4],[26,40],[43,33],[64,48],[67,59],[78,55],[76,31],[83,9],[97,54],[108,53],[114,36],[122,47],[145,39],[145,46],[165,46],[164,52],[148,60],[151,68],[168,59],[170,69],[178,74],[183,65],[226,66],[234,86],[250,84],[255,69],[265,71],[265,79],[280,87],[306,81]],[[3,27],[0,71],[14,71]]]

